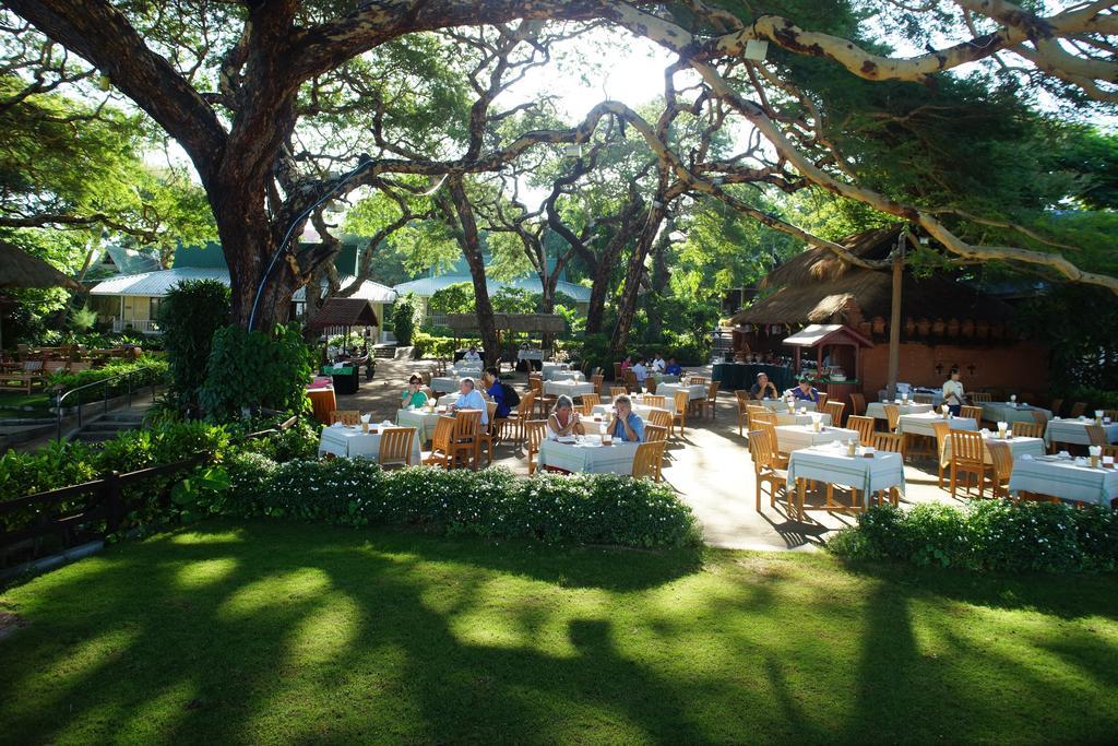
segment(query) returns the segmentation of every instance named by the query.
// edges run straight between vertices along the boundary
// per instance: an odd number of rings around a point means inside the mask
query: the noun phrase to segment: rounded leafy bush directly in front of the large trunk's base
[[[226,327],[214,336],[199,403],[217,422],[257,407],[302,412],[310,406],[305,387],[313,361],[295,324],[271,333]]]

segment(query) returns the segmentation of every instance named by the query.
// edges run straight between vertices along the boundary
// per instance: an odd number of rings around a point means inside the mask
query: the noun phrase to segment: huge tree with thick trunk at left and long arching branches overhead
[[[1074,255],[1067,256],[1069,252],[1051,245],[978,243],[956,230],[958,216],[868,186],[856,159],[836,144],[827,102],[802,96],[804,91],[785,77],[784,65],[788,58],[811,58],[872,83],[936,85],[953,70],[979,64],[1014,77],[1022,89],[1046,85],[1061,96],[1111,105],[1118,101],[1116,3],[1029,8],[1007,0],[885,3],[883,12],[906,20],[901,28],[915,29],[911,36],[922,34],[939,46],[916,55],[889,53],[883,44],[888,39],[875,37],[889,26],[855,22],[853,27],[836,27],[833,18],[821,18],[818,3],[807,4],[812,8],[795,6],[766,12],[769,9],[760,6],[700,0],[401,0],[345,4],[342,11],[338,3],[324,0],[7,3],[12,13],[86,60],[89,72],[95,68],[105,76],[187,152],[214,211],[230,270],[234,319],[240,324],[266,328],[280,321],[291,294],[328,261],[329,251],[301,256],[294,243],[325,200],[371,185],[385,174],[446,176],[448,196],[461,221],[468,174],[495,171],[540,144],[586,142],[603,121],[617,117],[633,125],[659,158],[657,193],[646,195],[646,225],[659,227],[667,204],[661,198],[679,188],[721,200],[764,225],[858,262],[836,244],[754,208],[727,188],[743,183],[777,189],[809,186],[918,226],[951,261],[1023,263],[1118,292],[1118,280],[1080,266]],[[844,3],[831,4],[849,9]],[[881,9],[875,8],[874,13],[878,17],[869,20],[881,21]],[[854,16],[846,12],[842,18]],[[316,81],[423,32],[453,30],[461,35],[463,28],[485,28],[502,38],[519,36],[531,45],[540,34],[550,32],[552,21],[606,23],[675,53],[679,59],[669,77],[689,77],[685,103],[695,116],[716,112],[723,126],[755,132],[760,147],[751,155],[694,158],[693,153],[673,151],[655,123],[606,102],[578,126],[523,133],[511,142],[472,138],[464,150],[442,151],[437,147],[404,151],[378,143],[368,151],[372,152],[370,158],[361,152],[351,158],[339,154],[339,164],[348,161],[341,172],[310,169],[293,157],[302,119],[301,96],[313,89]],[[758,58],[758,41],[774,50],[771,59]],[[485,91],[475,98],[471,122],[489,114],[491,101],[479,107]],[[775,106],[774,97],[798,98],[798,104]],[[391,111],[392,102],[386,100],[383,106]],[[631,274],[639,274],[634,263],[643,262],[641,256],[654,238],[654,230],[642,230],[638,251],[631,256]],[[475,276],[475,286],[477,280]],[[619,302],[623,315],[629,313],[636,293],[637,286],[626,283]],[[479,301],[481,312],[485,299]],[[624,332],[615,332],[614,346],[624,346]]]

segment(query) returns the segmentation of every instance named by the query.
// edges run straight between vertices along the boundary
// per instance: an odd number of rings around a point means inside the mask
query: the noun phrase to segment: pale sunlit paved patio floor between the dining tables
[[[340,397],[338,406],[371,412],[373,419],[394,419],[400,391],[407,377],[416,370],[427,370],[425,360],[391,360],[377,365],[376,378],[362,381],[353,396]],[[510,380],[521,390],[523,376]],[[702,522],[708,544],[736,549],[806,549],[818,547],[830,531],[854,522],[851,516],[809,511],[809,520],[789,520],[781,503],[768,504],[768,493],[761,500],[761,512],[755,510],[754,466],[746,440],[738,435],[737,404],[722,393],[714,418],[692,417],[685,437],[669,444],[664,479],[691,506]],[[528,473],[523,452],[511,444],[495,448],[495,463]],[[930,462],[920,469],[906,466],[904,501],[956,502],[938,489],[935,466]]]

